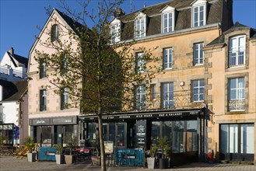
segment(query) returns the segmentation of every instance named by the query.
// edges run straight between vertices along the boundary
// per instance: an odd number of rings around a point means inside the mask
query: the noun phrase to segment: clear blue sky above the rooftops
[[[35,37],[47,20],[44,7],[51,5],[57,9],[57,0],[0,0],[0,60],[5,51],[13,47],[15,54],[28,57]],[[74,5],[74,1],[66,1]],[[97,0],[92,0],[96,5]],[[167,0],[132,0],[133,9],[141,9]],[[124,12],[131,11],[130,0],[122,5]],[[240,22],[246,26],[256,28],[256,0],[233,0],[233,22]],[[60,9],[61,10],[61,9]]]

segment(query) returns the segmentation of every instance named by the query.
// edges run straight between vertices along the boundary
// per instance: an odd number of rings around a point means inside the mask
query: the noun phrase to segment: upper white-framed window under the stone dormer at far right
[[[237,66],[245,64],[245,36],[230,38],[229,65]]]

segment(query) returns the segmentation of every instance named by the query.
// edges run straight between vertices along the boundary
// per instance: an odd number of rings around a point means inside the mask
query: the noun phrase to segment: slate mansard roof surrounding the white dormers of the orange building
[[[173,0],[162,2],[160,4],[148,6],[131,12],[127,15],[117,17],[122,22],[121,40],[128,40],[134,38],[134,20],[139,12],[147,16],[146,35],[156,35],[161,33],[161,14],[162,10],[168,5],[173,7],[175,12],[174,30],[184,30],[191,28],[191,6],[195,0]],[[223,1],[222,0],[208,0],[207,1],[207,25],[213,23],[222,23],[223,19]]]

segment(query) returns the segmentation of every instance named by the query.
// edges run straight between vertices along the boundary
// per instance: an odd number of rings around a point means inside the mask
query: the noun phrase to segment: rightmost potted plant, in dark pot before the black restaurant
[[[166,137],[159,138],[158,141],[157,141],[157,144],[158,144],[159,148],[162,151],[162,157],[161,157],[161,159],[159,159],[160,169],[167,169],[168,168],[168,162],[169,162],[169,159],[167,158],[167,155],[170,153],[169,141],[167,140]]]

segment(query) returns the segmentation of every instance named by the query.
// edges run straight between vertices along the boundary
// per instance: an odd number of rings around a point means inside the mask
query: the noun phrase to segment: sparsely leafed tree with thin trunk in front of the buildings
[[[115,110],[134,109],[136,88],[149,88],[151,80],[162,70],[157,67],[161,58],[152,54],[157,47],[140,47],[143,53],[136,58],[133,53],[135,40],[110,42],[115,36],[110,34],[110,22],[123,0],[102,0],[96,15],[89,12],[89,2],[78,2],[81,12],[75,12],[64,1],[59,3],[65,15],[72,18],[74,27],[59,33],[60,37],[68,35],[68,40],[58,38],[52,42],[49,38],[40,42],[54,49],[54,53],[37,51],[36,60],[47,66],[47,78],[58,88],[55,92],[69,94],[72,103],[66,104],[68,107],[80,107],[82,115],[97,115],[101,169],[106,170],[102,116]],[[93,26],[89,28],[86,23],[93,23]],[[51,33],[49,30],[49,37]],[[143,72],[138,72],[138,68]]]

